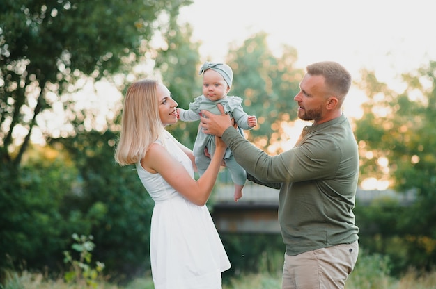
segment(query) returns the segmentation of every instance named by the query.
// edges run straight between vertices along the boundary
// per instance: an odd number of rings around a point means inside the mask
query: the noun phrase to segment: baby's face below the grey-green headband
[[[224,77],[212,69],[203,72],[203,95],[210,101],[217,101],[227,96],[230,90]]]

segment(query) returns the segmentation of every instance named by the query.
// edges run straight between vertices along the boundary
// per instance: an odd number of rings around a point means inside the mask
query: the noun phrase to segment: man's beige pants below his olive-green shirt
[[[296,256],[285,254],[282,289],[343,289],[356,265],[358,242],[307,251]]]

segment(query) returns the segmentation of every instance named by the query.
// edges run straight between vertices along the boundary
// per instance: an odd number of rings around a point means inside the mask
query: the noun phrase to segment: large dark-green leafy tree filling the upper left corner
[[[20,165],[38,115],[81,76],[129,71],[160,15],[189,0],[5,0],[0,9],[0,160]],[[66,105],[66,104],[65,104]],[[17,131],[24,131],[22,140]]]

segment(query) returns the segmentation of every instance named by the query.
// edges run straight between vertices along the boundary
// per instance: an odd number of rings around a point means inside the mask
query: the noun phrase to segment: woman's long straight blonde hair
[[[115,160],[120,165],[132,165],[146,155],[148,147],[164,135],[159,117],[158,81],[141,79],[127,88],[123,118]]]

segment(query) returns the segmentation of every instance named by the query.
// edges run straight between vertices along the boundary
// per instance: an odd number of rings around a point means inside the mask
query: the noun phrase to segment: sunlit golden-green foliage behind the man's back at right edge
[[[430,63],[404,75],[407,88],[401,94],[364,72],[361,88],[366,89],[369,100],[355,131],[365,176],[382,179],[389,174],[398,191],[417,190],[431,200],[436,195],[435,71],[436,63]],[[377,163],[382,157],[389,160],[387,168]]]

